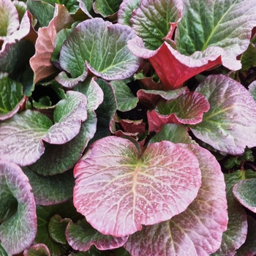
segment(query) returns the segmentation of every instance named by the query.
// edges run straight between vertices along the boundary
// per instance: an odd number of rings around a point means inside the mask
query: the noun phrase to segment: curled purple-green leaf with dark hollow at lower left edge
[[[16,211],[0,225],[0,240],[10,254],[29,248],[37,234],[37,214],[29,178],[18,165],[0,160],[1,211],[8,213],[10,202]],[[5,209],[4,209],[5,208]]]

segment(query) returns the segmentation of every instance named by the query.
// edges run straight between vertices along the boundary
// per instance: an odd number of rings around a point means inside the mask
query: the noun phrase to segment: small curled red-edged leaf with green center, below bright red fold
[[[148,130],[159,132],[164,124],[198,124],[209,108],[202,94],[183,91],[176,99],[159,102],[155,110],[147,112]]]

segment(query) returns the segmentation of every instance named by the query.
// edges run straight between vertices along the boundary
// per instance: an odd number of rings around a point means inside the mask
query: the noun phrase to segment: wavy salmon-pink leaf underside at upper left
[[[74,19],[69,15],[66,7],[56,4],[54,18],[50,20],[47,27],[39,28],[36,53],[30,59],[31,68],[35,73],[34,83],[58,72],[58,69],[50,62],[55,48],[56,34],[73,22]]]

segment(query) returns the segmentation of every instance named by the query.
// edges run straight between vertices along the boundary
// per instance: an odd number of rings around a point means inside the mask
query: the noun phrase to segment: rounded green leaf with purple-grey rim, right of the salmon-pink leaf
[[[59,58],[61,68],[72,78],[61,72],[56,80],[73,87],[85,80],[87,69],[105,80],[129,78],[140,64],[127,47],[127,41],[134,37],[135,32],[128,26],[113,25],[101,18],[79,23],[64,42]]]

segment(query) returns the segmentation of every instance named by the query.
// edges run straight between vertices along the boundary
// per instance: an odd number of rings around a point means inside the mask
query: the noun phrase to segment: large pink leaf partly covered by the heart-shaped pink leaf
[[[132,256],[208,256],[221,244],[227,229],[227,200],[219,163],[200,146],[183,146],[199,160],[202,186],[197,197],[181,214],[129,236],[124,247]]]

